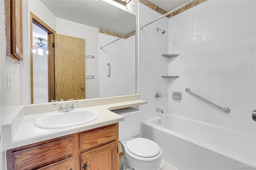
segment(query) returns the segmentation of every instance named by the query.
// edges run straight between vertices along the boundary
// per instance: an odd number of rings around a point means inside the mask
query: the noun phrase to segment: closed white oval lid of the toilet
[[[144,158],[154,157],[160,153],[160,146],[146,138],[136,138],[127,142],[126,146],[132,154]]]

